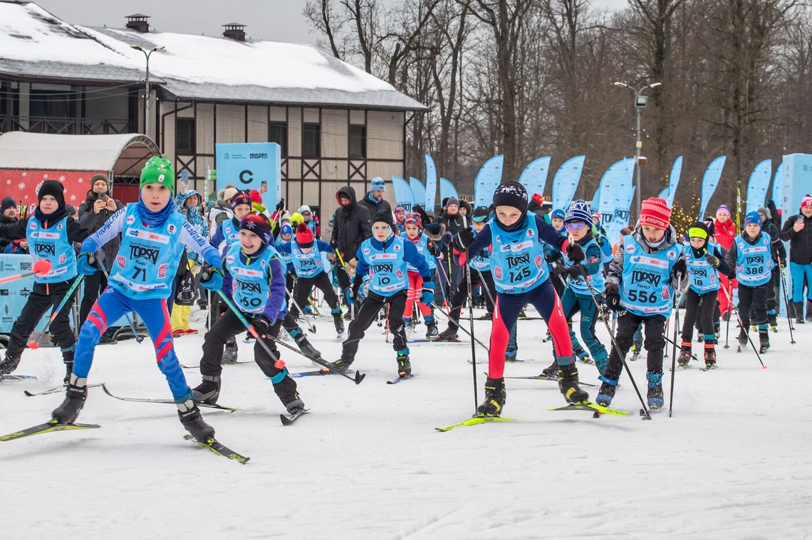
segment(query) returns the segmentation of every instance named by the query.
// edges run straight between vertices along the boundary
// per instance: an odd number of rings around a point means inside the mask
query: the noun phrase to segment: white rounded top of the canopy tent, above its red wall
[[[0,135],[0,169],[103,170],[138,174],[158,155],[144,135],[50,135],[10,131]],[[133,173],[133,171],[136,171]]]

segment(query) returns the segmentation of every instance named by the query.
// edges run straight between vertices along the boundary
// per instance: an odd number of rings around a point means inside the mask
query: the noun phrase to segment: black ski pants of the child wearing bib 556
[[[643,348],[646,349],[647,371],[651,373],[663,372],[663,349],[665,347],[665,316],[649,315],[643,317],[635,315],[631,311],[618,311],[617,332],[615,332],[615,343],[617,347],[611,348],[609,354],[609,365],[604,374],[607,379],[619,380],[623,372],[623,360],[628,354],[628,349],[632,347],[634,332],[642,324],[646,331],[646,339],[643,341]],[[618,350],[620,349],[620,350]]]

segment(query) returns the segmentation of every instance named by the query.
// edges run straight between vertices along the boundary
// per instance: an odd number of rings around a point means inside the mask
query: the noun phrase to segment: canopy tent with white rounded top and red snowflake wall
[[[65,186],[65,200],[78,205],[90,189],[93,174],[137,177],[158,146],[144,135],[49,135],[11,131],[0,135],[0,195],[22,204],[37,202],[44,180]],[[119,197],[123,195],[119,189]],[[137,199],[137,188],[134,199]],[[133,199],[132,194],[127,199]],[[120,197],[124,199],[123,197]]]

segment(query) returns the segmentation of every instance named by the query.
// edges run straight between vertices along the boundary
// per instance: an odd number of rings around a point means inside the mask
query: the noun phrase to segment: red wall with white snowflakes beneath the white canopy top
[[[37,205],[37,191],[42,182],[56,180],[64,186],[65,202],[78,208],[92,187],[90,178],[98,173],[106,174],[104,171],[0,169],[0,195],[15,199],[30,212]]]

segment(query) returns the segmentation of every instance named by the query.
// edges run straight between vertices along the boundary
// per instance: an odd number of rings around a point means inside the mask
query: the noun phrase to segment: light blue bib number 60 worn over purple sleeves
[[[270,294],[270,259],[277,255],[267,246],[257,257],[240,260],[240,244],[231,244],[226,252],[226,270],[231,274],[231,298],[240,311],[261,313]]]

